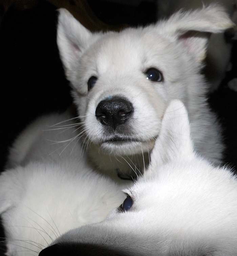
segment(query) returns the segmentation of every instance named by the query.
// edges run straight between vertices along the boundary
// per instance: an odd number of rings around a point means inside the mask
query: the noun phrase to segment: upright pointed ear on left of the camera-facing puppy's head
[[[98,34],[92,34],[66,9],[59,9],[57,43],[69,80],[79,57],[96,38]]]

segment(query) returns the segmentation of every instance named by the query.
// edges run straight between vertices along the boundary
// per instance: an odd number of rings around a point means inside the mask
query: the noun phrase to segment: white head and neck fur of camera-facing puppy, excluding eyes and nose
[[[219,33],[231,26],[224,8],[210,5],[177,12],[145,28],[92,34],[61,9],[57,41],[74,103],[85,122],[90,160],[101,169],[119,168],[129,173],[131,168],[123,160],[126,156],[131,166],[133,162],[142,170],[142,155],[148,164],[148,151],[159,135],[164,111],[177,98],[188,109],[195,150],[218,165],[223,151],[221,130],[207,105],[207,85],[200,74],[208,39],[183,35],[189,31]],[[163,73],[163,82],[146,79],[144,72],[151,67]],[[91,76],[98,80],[88,92]],[[126,97],[134,107],[125,124],[126,134],[116,130],[108,134],[95,116],[99,102],[114,95]],[[115,135],[138,142],[106,141]]]

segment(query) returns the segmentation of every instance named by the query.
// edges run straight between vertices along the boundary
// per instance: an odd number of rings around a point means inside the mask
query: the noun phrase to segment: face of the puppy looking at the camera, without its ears
[[[160,42],[159,47],[153,40]],[[85,116],[88,137],[104,151],[131,154],[153,146],[169,100],[168,87],[172,78],[177,79],[162,65],[168,43],[156,35],[147,39],[142,29],[126,30],[102,36],[82,55],[73,96]],[[172,57],[168,62],[175,69]],[[97,79],[88,90],[91,77]]]

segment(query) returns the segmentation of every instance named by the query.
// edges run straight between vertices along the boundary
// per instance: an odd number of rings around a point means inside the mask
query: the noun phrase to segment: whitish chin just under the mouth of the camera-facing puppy
[[[155,140],[151,139],[146,142],[142,141],[107,141],[100,145],[101,150],[106,154],[131,156],[138,153],[150,151],[155,144]]]

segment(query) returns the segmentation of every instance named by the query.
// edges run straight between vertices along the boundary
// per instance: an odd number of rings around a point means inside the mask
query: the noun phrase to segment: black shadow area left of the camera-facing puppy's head
[[[57,13],[46,2],[24,11],[10,7],[0,27],[1,169],[7,148],[36,116],[71,103],[56,45]]]

